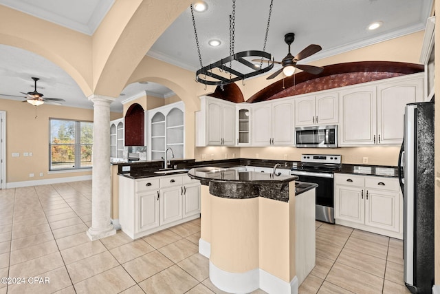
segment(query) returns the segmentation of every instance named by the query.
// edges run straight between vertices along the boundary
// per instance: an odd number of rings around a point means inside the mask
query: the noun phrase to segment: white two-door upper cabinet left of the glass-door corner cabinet
[[[201,111],[196,113],[196,146],[235,145],[235,108],[232,102],[201,97]]]

